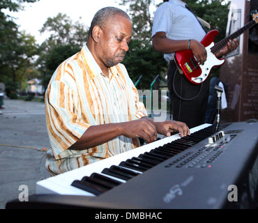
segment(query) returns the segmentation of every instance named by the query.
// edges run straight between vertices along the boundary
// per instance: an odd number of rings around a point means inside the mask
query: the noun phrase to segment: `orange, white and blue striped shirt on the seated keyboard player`
[[[147,116],[135,85],[121,63],[103,75],[86,47],[56,69],[45,94],[51,148],[46,167],[51,174],[91,164],[139,146],[123,135],[93,148],[70,150],[91,125],[121,123]]]

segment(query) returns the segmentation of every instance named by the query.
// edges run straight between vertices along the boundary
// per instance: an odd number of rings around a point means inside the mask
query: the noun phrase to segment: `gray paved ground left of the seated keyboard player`
[[[4,100],[3,107],[0,110],[0,209],[24,192],[20,185],[26,185],[29,194],[35,194],[36,182],[50,177],[43,150],[49,147],[44,103]]]

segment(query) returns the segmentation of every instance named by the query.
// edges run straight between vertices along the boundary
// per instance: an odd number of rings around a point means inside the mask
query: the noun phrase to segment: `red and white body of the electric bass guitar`
[[[204,39],[201,41],[207,52],[207,59],[204,64],[199,65],[190,49],[176,52],[175,59],[177,65],[183,70],[183,75],[192,84],[201,84],[206,81],[212,68],[221,66],[225,63],[225,59],[218,59],[215,54],[211,52],[211,47],[214,44],[214,38],[218,35],[218,30],[209,31]]]

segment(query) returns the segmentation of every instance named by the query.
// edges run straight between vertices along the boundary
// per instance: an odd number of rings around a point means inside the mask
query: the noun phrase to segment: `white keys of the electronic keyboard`
[[[190,129],[190,132],[197,132],[199,130],[202,130],[203,128],[207,128],[210,126],[210,124],[204,124],[200,125],[196,128]],[[86,195],[86,196],[96,196],[91,192],[87,192],[84,190],[81,190],[77,187],[73,187],[71,184],[74,180],[82,180],[84,176],[90,176],[95,178],[96,176],[91,176],[91,174],[99,174],[101,177],[107,177],[108,179],[105,179],[109,181],[109,179],[117,180],[119,183],[126,183],[126,180],[123,180],[121,178],[116,178],[114,176],[109,176],[107,174],[103,174],[102,171],[105,168],[109,168],[112,165],[119,166],[121,168],[130,169],[132,171],[137,172],[138,174],[141,174],[142,171],[139,171],[139,169],[132,169],[132,167],[122,167],[122,162],[125,162],[125,160],[130,160],[130,162],[141,162],[141,164],[148,164],[151,167],[155,167],[155,165],[160,164],[161,162],[165,161],[165,159],[155,156],[155,154],[149,153],[152,149],[156,149],[158,147],[164,146],[162,149],[167,149],[169,152],[173,153],[180,153],[181,151],[184,151],[186,148],[185,146],[180,146],[179,144],[172,144],[173,141],[176,141],[176,139],[181,139],[189,141],[193,144],[197,143],[194,139],[191,139],[191,137],[188,138],[181,138],[179,134],[174,134],[171,137],[165,137],[164,139],[160,139],[158,141],[154,141],[151,144],[146,144],[144,146],[141,146],[139,148],[135,148],[132,151],[128,151],[126,153],[121,153],[119,155],[116,155],[114,157],[109,157],[105,160],[89,164],[85,167],[81,167],[78,169],[74,169],[73,171],[68,171],[64,174],[59,174],[58,176],[50,177],[45,180],[40,180],[36,183],[36,194],[77,194],[77,195]],[[198,139],[199,141],[200,139]],[[139,164],[139,167],[141,166]],[[143,167],[143,166],[142,166]],[[150,169],[151,169],[150,167]],[[143,172],[144,174],[144,172]],[[112,190],[112,189],[110,189]]]

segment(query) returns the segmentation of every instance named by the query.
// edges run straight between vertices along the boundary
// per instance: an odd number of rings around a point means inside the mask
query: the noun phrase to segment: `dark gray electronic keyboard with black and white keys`
[[[29,207],[257,208],[258,123],[204,124],[36,183]]]

